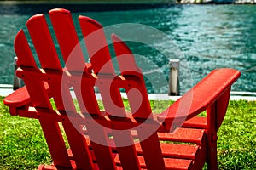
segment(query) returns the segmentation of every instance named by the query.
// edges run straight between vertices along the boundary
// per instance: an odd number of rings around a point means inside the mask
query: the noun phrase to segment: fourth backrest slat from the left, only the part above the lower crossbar
[[[102,26],[96,20],[84,16],[79,16],[79,22],[93,70],[96,74],[101,71],[113,75],[109,80],[103,80],[101,75],[98,75],[99,82],[96,85],[99,85],[105,110],[113,116],[125,116],[119,89],[111,87],[114,70]]]

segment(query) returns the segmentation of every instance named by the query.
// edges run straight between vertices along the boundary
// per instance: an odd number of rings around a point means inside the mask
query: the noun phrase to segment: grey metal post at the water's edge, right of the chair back
[[[179,95],[179,59],[170,59],[169,95]]]

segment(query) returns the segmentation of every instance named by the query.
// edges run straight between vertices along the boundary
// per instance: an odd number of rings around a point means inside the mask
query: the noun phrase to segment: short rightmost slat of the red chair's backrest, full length
[[[131,112],[135,118],[153,118],[151,107],[148,101],[148,94],[146,86],[143,81],[142,71],[137,67],[134,56],[130,50],[119,37],[113,35],[113,47],[115,54],[118,58],[119,69],[123,76],[137,76],[140,81],[140,87],[137,88],[139,94],[131,93],[130,89],[127,89],[127,97],[131,106]],[[129,65],[126,65],[127,61]],[[132,87],[131,87],[132,89]],[[139,104],[139,106],[137,106]],[[149,137],[148,132],[151,132],[147,127],[143,130],[137,130],[138,139],[143,150],[143,157],[148,169],[165,169],[165,163],[163,160],[162,152],[160,149],[160,141],[156,132]],[[154,149],[149,149],[154,145]]]

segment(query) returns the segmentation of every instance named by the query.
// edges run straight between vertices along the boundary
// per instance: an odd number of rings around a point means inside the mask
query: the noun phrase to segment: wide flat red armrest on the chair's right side
[[[240,77],[240,71],[223,68],[214,70],[207,75],[194,88],[178,99],[174,104],[157,116],[158,121],[166,127],[175,123],[180,126],[183,122],[206,111],[215,101],[230,90],[231,85]],[[168,129],[166,129],[168,130]]]

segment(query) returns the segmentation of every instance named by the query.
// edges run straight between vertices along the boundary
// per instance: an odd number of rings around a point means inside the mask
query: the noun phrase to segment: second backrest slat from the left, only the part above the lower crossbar
[[[49,27],[47,25],[44,14],[38,14],[33,16],[30,20],[27,21],[26,26],[32,38],[32,42],[34,44],[34,48],[37,51],[38,59],[42,68],[47,70],[56,70],[62,71],[61,63],[58,58],[54,42],[49,32]],[[74,106],[69,105],[69,108],[64,108],[61,94],[65,90],[65,94],[69,93],[69,88],[65,87],[65,85],[61,86],[61,82],[55,82],[54,80],[48,81],[49,88],[53,98],[55,99],[55,105],[58,110],[64,111],[74,111]],[[61,90],[61,87],[62,88]],[[69,97],[68,103],[72,104],[72,98]]]

